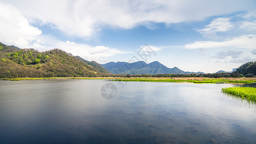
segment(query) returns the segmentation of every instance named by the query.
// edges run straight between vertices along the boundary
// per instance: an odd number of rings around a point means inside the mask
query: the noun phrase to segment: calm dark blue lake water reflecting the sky
[[[0,143],[256,143],[256,106],[221,93],[232,84],[122,84],[0,81]]]

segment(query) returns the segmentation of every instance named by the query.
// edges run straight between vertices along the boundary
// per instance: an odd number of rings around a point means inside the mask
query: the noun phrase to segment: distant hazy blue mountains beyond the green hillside
[[[144,61],[128,62],[109,62],[102,64],[109,72],[114,74],[200,74],[204,72],[184,72],[177,67],[168,68],[158,61],[146,63]]]

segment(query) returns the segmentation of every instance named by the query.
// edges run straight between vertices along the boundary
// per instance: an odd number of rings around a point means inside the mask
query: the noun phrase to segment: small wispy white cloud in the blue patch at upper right
[[[217,18],[213,20],[210,24],[206,25],[203,29],[198,29],[200,34],[204,36],[212,36],[217,32],[226,32],[231,30],[234,25],[230,22],[230,18]]]

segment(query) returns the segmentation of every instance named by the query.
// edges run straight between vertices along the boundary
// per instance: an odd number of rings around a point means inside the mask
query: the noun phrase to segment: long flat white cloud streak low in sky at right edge
[[[191,44],[186,44],[184,48],[256,48],[256,35],[243,35],[232,38],[226,41],[195,41]]]

